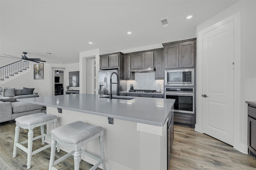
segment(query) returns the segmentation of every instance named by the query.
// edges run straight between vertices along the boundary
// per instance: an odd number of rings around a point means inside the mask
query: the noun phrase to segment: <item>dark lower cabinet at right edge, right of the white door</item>
[[[256,106],[248,105],[248,154],[256,157]]]

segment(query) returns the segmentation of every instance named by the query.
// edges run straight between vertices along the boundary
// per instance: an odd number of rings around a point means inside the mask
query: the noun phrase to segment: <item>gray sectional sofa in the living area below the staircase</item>
[[[26,87],[24,88],[25,90],[28,89]],[[31,92],[34,89],[30,90],[29,94],[27,95],[26,93],[22,94],[22,90],[24,90],[24,88],[15,89],[15,95],[13,90],[12,94],[4,93],[6,94],[6,96],[12,97],[0,97],[0,123],[16,119],[17,117],[42,112],[41,109],[43,108],[43,106],[41,105],[16,101],[16,99],[39,97],[37,93]]]

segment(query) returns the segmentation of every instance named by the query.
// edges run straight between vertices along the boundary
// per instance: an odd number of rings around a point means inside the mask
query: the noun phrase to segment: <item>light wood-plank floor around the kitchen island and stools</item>
[[[0,123],[0,170],[26,170],[26,154],[18,149],[12,158],[15,122]],[[34,129],[40,134],[40,128]],[[25,140],[27,130],[20,130],[20,139]],[[33,150],[41,146],[40,140],[34,141]],[[64,155],[56,153],[56,157]],[[47,170],[50,148],[32,156],[31,170]],[[56,165],[61,170],[73,169],[73,157]],[[80,170],[92,167],[85,161],[80,162]],[[232,146],[206,134],[195,132],[193,128],[174,126],[174,146],[170,170],[256,170],[256,158],[242,154]],[[98,170],[100,170],[98,168]]]

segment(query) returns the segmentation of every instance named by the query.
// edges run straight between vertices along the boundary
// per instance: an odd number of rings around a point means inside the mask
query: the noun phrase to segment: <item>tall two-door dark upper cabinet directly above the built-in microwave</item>
[[[163,43],[165,69],[194,67],[196,38]]]

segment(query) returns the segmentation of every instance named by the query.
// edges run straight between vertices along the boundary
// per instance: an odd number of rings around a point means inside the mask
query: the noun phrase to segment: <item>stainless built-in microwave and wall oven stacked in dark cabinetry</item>
[[[174,112],[195,113],[194,69],[165,70],[165,98],[176,99]]]

